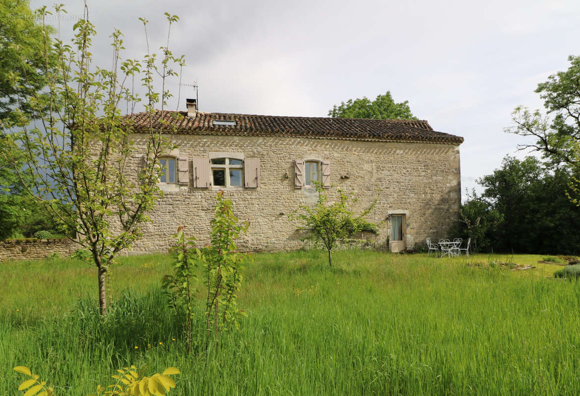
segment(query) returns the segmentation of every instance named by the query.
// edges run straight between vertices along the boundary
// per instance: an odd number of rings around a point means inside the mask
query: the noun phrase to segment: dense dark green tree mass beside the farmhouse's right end
[[[478,179],[481,196],[462,205],[463,237],[484,251],[578,254],[580,208],[565,194],[571,178],[535,157],[505,157],[501,168]]]

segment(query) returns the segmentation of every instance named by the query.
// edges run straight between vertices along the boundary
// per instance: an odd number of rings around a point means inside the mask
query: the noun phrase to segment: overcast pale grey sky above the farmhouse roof
[[[59,1],[66,39],[83,3]],[[125,35],[125,56],[142,58],[138,18],[150,21],[157,49],[163,13],[177,14],[170,47],[186,58],[182,82],[198,82],[201,111],[327,116],[333,104],[390,90],[433,129],[465,138],[464,195],[505,155],[523,157],[523,138],[503,131],[514,107],[542,108],[538,83],[580,55],[578,0],[87,1],[95,63],[105,67],[114,28]],[[179,109],[194,95],[183,86]]]

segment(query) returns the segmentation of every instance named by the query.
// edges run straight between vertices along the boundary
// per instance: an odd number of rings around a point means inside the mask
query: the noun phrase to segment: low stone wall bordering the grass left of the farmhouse
[[[11,239],[0,241],[0,261],[42,259],[54,252],[69,257],[79,248],[69,239]]]

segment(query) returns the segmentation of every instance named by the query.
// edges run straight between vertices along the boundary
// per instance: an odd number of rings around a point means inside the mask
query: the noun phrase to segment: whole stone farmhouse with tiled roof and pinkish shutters
[[[150,121],[147,113],[128,117],[137,167]],[[183,225],[200,244],[208,241],[218,190],[249,222],[241,250],[301,247],[303,234],[288,215],[316,201],[315,181],[331,199],[336,188],[353,192],[358,208],[378,199],[368,220],[380,223],[375,243],[385,246],[388,238],[391,251],[445,236],[458,218],[463,138],[425,120],[208,113],[187,100],[187,112],[158,111],[153,126],[162,122],[175,127],[175,149],[160,159],[164,197],[134,252],[167,251]]]

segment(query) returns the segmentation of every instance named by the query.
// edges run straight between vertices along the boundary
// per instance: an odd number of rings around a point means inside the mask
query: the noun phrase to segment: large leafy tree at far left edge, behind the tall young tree
[[[41,92],[46,86],[47,67],[53,67],[56,53],[42,56],[50,43],[44,31],[49,27],[37,23],[28,1],[0,2],[0,120],[8,119],[15,107],[31,113],[32,108],[18,99]],[[47,64],[48,62],[48,64]],[[46,215],[42,205],[32,199],[8,158],[6,141],[0,134],[0,239],[31,237],[39,230],[55,231],[55,223]]]

